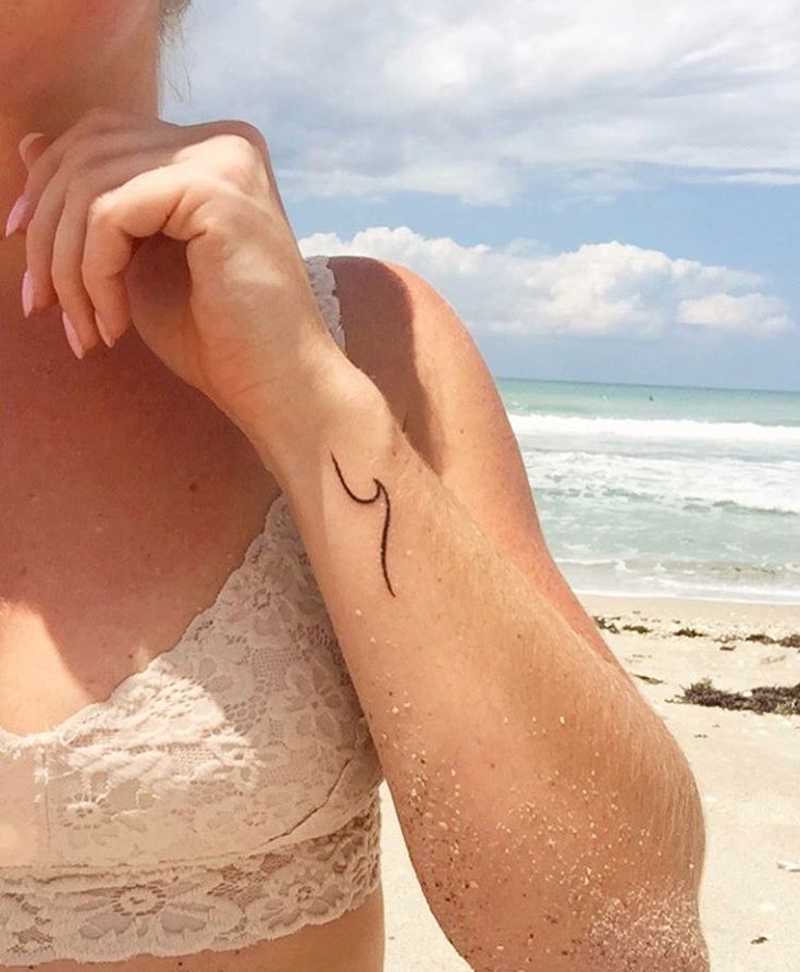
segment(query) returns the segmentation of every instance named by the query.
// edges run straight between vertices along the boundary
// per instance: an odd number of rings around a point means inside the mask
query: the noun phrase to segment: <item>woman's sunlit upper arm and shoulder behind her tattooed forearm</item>
[[[378,260],[362,263],[373,264],[362,270],[384,295],[366,302],[382,306],[382,340],[391,328],[392,347],[403,348],[399,355],[408,361],[404,431],[409,442],[531,586],[621,668],[547,549],[516,436],[469,331],[411,270]]]

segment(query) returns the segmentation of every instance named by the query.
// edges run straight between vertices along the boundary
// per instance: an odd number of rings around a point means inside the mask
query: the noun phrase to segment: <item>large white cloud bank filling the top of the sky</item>
[[[194,103],[273,138],[294,195],[508,205],[557,173],[606,198],[639,185],[631,165],[800,177],[797,0],[195,4]]]

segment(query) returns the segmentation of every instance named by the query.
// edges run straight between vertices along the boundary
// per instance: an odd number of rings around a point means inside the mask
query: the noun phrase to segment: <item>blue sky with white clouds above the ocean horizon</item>
[[[304,256],[410,268],[495,378],[800,391],[797,0],[194,0]]]

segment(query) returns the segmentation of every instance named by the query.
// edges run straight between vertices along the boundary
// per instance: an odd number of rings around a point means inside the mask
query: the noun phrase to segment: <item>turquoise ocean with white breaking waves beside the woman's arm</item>
[[[800,393],[495,383],[576,591],[800,603]]]

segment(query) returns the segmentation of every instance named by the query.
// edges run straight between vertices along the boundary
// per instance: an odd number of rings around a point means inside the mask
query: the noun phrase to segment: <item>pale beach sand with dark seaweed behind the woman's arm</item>
[[[739,692],[798,685],[800,605],[581,601],[698,780],[713,972],[800,972],[800,715],[669,701],[702,678]],[[386,972],[468,970],[419,888],[385,783],[381,796]]]

